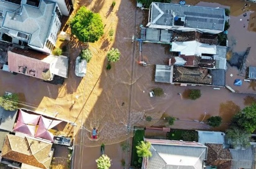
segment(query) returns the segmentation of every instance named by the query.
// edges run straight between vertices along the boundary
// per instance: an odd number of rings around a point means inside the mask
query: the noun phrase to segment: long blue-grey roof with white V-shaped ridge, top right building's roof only
[[[151,10],[152,24],[172,26],[178,16],[185,17],[185,27],[224,30],[224,9],[152,2]]]

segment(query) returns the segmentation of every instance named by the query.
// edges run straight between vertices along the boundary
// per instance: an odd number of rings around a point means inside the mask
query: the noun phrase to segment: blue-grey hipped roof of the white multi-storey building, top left
[[[2,26],[31,34],[29,45],[43,47],[51,27],[55,2],[41,0],[39,8],[23,5],[20,15],[7,11]]]

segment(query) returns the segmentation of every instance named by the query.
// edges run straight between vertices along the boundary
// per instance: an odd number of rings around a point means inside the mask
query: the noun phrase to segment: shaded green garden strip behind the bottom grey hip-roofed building
[[[198,141],[198,133],[195,130],[172,130],[167,133],[168,140]]]

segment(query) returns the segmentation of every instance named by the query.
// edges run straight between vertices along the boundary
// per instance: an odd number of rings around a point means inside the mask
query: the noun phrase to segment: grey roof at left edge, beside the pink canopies
[[[0,129],[12,131],[17,111],[7,111],[0,108]]]

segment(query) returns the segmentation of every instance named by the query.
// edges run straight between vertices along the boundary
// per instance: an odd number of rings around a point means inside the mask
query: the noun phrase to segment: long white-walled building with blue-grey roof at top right
[[[221,33],[224,25],[224,9],[159,2],[151,3],[147,24],[149,28],[209,34]]]

